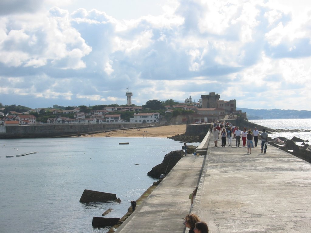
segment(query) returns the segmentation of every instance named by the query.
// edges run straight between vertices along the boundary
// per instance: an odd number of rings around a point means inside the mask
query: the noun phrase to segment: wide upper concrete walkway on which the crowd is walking
[[[311,232],[311,164],[271,145],[232,145],[210,142],[192,209],[210,232]]]

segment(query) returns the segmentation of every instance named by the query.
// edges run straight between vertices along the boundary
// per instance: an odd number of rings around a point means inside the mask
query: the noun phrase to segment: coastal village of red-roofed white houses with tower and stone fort
[[[10,111],[4,114],[4,108],[0,109],[0,125],[2,126],[25,126],[35,124],[109,124],[109,123],[135,123],[135,124],[172,124],[167,121],[159,112],[146,112],[141,106],[132,105],[132,92],[126,92],[127,106],[106,106],[101,110],[92,110],[89,113],[83,112],[80,107],[75,107],[73,110],[60,110],[55,108],[37,108],[30,109],[27,112]],[[214,122],[220,119],[234,119],[236,117],[247,119],[246,113],[236,110],[235,99],[224,101],[220,99],[220,94],[210,92],[206,95],[201,95],[198,102],[193,102],[191,96],[186,98],[184,103],[178,105],[166,105],[165,114],[173,114],[174,110],[188,110],[191,114],[181,115],[177,123],[204,123]],[[49,118],[46,123],[37,122],[33,112],[49,112],[50,115],[55,115]],[[133,117],[126,121],[121,118],[121,114],[115,112],[133,112]],[[64,117],[71,114],[73,118]],[[174,120],[176,121],[176,120]]]

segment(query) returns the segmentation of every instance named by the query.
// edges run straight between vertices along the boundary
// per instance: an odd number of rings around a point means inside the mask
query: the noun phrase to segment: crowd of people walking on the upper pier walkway
[[[215,124],[213,130],[211,130],[212,137],[214,139],[214,147],[218,147],[218,139],[219,136],[221,137],[221,146],[226,146],[226,141],[228,139],[228,146],[232,147],[232,138],[235,138],[235,146],[240,146],[240,139],[242,138],[243,147],[247,147],[247,153],[251,154],[251,150],[254,147],[253,145],[253,139],[255,147],[257,147],[258,144],[258,136],[259,131],[255,127],[252,131],[249,129],[246,131],[246,128],[244,127],[243,131],[239,129],[238,126],[231,125],[230,123],[226,124]],[[267,153],[267,138],[268,134],[266,133],[266,130],[263,129],[263,132],[260,134],[261,136],[261,153]]]

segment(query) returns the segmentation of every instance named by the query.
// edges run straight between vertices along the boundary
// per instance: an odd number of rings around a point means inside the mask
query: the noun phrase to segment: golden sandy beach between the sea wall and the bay
[[[167,138],[186,132],[186,125],[148,127],[131,130],[114,130],[106,133],[86,135],[84,137],[160,137]]]

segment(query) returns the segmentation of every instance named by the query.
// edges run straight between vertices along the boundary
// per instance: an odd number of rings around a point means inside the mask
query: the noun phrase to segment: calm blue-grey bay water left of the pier
[[[0,140],[0,232],[106,232],[93,228],[92,218],[108,208],[105,217],[121,218],[156,181],[148,171],[181,147],[166,138]],[[114,193],[122,202],[80,203],[85,189]]]

